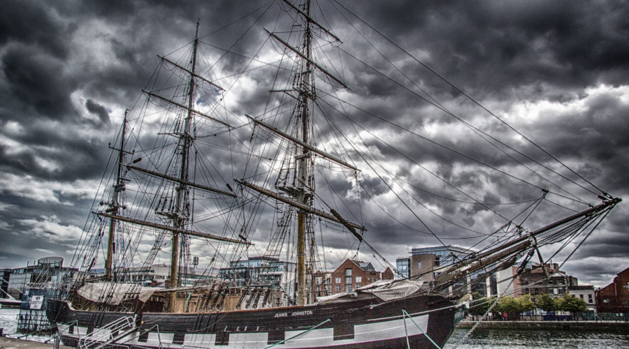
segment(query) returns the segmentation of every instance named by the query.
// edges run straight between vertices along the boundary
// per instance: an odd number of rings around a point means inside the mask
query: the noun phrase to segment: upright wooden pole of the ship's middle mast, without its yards
[[[181,144],[181,156],[180,156],[180,171],[179,171],[179,186],[177,187],[177,198],[175,201],[176,212],[173,216],[173,228],[185,229],[185,225],[188,221],[187,212],[187,195],[189,181],[189,151],[192,143],[192,136],[190,135],[192,126],[192,104],[194,102],[194,75],[196,75],[196,50],[198,47],[198,22],[196,22],[196,34],[194,36],[194,48],[192,51],[192,68],[190,74],[190,82],[188,86],[188,105],[187,114],[184,119],[184,132],[180,136]],[[179,250],[180,250],[180,233],[173,232],[173,239],[171,244],[171,288],[177,288],[180,285],[179,276]]]

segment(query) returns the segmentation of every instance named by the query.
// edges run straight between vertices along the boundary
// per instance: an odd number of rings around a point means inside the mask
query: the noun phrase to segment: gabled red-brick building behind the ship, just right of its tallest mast
[[[354,292],[356,288],[369,285],[378,280],[393,279],[393,272],[386,268],[384,272],[376,272],[370,262],[347,259],[336,268],[330,277],[332,294],[340,292]]]

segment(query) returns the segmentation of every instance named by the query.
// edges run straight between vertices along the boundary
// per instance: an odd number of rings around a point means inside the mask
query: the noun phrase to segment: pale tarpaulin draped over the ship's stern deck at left
[[[79,288],[78,295],[92,302],[107,302],[107,304],[117,305],[129,292],[136,294],[140,302],[146,302],[157,290],[160,289],[132,283],[86,283],[82,288]]]

